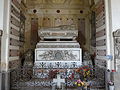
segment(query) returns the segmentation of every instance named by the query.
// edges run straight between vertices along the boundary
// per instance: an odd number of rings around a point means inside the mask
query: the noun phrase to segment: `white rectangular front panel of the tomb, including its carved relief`
[[[80,52],[79,50],[36,50],[37,61],[58,61],[58,60],[79,60]]]

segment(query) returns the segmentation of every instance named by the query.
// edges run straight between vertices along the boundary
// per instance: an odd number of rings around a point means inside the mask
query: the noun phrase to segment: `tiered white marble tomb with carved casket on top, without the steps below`
[[[82,63],[81,48],[75,40],[74,26],[60,26],[39,30],[42,39],[36,45],[35,65],[41,68],[77,68]],[[41,66],[44,63],[44,67]]]

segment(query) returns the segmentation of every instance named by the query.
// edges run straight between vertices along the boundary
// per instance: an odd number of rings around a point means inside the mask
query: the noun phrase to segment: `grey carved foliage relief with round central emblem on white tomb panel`
[[[77,60],[70,50],[49,50],[39,54],[42,60]]]

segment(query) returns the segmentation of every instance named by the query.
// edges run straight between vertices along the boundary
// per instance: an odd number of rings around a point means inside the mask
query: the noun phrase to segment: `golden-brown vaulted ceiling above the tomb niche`
[[[27,0],[27,7],[80,9],[88,6],[86,2],[89,0]]]

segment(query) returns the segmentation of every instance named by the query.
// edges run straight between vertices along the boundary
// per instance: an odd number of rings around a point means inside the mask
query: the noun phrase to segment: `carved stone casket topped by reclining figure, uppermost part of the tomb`
[[[74,39],[78,36],[78,30],[74,25],[62,25],[53,28],[41,28],[38,31],[38,35],[43,38],[69,38]]]

